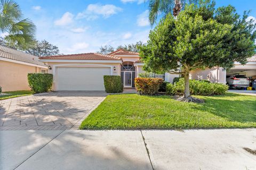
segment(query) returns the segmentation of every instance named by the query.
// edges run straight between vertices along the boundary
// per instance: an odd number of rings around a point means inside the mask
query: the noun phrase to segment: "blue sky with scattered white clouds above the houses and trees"
[[[100,46],[143,41],[151,29],[148,4],[144,0],[15,0],[37,27],[37,39],[46,39],[63,54],[97,52]],[[255,0],[217,0],[217,6],[231,4],[239,14],[252,10]]]

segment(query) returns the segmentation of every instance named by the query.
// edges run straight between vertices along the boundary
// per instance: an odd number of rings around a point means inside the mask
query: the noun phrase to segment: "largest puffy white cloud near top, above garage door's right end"
[[[77,18],[86,18],[87,20],[95,20],[99,18],[99,16],[103,16],[103,18],[108,18],[109,16],[117,14],[121,11],[123,11],[122,8],[111,4],[90,4],[87,6],[85,11],[77,14]]]

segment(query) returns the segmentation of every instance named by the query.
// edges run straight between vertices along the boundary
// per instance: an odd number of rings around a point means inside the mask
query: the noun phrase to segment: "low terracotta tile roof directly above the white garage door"
[[[103,55],[99,53],[82,53],[82,54],[69,54],[69,55],[55,55],[39,57],[42,60],[122,60],[122,58]]]

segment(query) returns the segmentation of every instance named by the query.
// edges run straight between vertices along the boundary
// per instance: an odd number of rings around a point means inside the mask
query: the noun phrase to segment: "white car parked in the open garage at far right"
[[[227,84],[230,88],[247,88],[250,85],[250,80],[245,75],[227,75],[226,78]]]

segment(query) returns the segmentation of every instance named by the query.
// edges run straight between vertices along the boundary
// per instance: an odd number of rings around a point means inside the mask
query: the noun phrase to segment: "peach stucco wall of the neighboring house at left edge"
[[[0,86],[2,91],[30,90],[28,73],[41,72],[41,68],[0,61]]]

